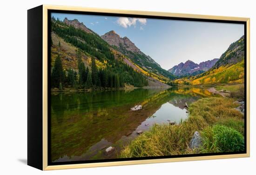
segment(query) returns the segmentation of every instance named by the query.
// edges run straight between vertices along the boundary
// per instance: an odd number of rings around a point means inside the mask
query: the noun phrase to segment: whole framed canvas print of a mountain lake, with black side
[[[28,10],[28,165],[249,156],[249,19]]]

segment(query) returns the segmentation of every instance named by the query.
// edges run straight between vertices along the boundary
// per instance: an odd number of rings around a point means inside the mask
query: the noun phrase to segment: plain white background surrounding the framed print
[[[256,173],[256,12],[254,0],[1,0],[0,1],[0,174],[137,175]],[[251,157],[194,162],[68,169],[42,172],[27,161],[27,9],[41,4],[251,18]]]

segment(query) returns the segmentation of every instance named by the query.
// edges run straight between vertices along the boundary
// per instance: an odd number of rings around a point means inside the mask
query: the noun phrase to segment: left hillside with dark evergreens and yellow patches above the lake
[[[77,19],[51,20],[52,88],[167,86]],[[55,77],[55,78],[54,78]]]

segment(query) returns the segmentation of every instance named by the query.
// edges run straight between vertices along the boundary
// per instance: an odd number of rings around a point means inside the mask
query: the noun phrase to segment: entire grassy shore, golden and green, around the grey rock
[[[209,97],[189,106],[189,118],[180,125],[153,125],[130,144],[120,157],[167,156],[230,152],[244,149],[244,117],[234,109],[235,99]],[[190,149],[195,131],[202,136],[200,148]]]

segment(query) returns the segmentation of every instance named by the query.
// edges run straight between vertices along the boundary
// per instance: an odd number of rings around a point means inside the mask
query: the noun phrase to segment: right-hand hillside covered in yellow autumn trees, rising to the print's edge
[[[179,84],[191,85],[244,82],[244,36],[230,44],[216,64],[208,71],[188,78],[175,80]]]

